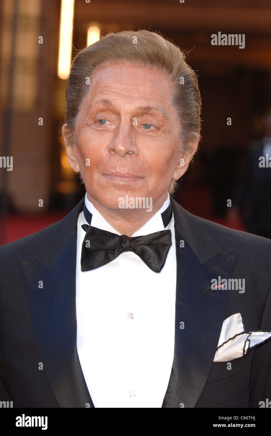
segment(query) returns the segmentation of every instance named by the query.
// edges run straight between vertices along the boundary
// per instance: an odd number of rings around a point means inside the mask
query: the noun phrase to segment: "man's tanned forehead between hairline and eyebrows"
[[[172,81],[165,72],[121,61],[101,65],[94,72],[84,103],[91,106],[104,98],[128,106],[159,104],[170,110],[172,88]]]

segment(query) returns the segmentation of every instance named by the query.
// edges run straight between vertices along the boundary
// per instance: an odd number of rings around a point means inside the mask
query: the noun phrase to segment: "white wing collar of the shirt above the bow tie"
[[[100,228],[101,230],[106,230],[107,232],[116,233],[117,235],[121,235],[121,233],[117,232],[103,216],[97,211],[97,209],[93,206],[93,204],[87,199],[85,195],[85,204],[88,211],[92,214],[91,225],[92,227]],[[159,232],[161,230],[165,230],[161,213],[164,212],[170,204],[170,197],[168,194],[168,198],[160,208],[156,214],[151,217],[140,229],[133,233],[132,236],[143,236],[148,235],[149,233]],[[84,224],[89,224],[86,221],[85,216],[83,215]],[[166,227],[168,229],[170,227],[170,223]]]

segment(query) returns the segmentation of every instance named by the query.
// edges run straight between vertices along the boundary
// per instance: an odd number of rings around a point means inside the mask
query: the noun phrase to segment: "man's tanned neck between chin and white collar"
[[[165,192],[157,201],[152,203],[152,210],[147,209],[108,209],[98,200],[86,194],[87,199],[93,204],[103,218],[121,235],[132,236],[149,221],[162,207],[168,198],[168,191]]]

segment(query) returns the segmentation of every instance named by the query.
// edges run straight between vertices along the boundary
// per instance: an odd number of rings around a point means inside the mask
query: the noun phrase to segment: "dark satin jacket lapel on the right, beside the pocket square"
[[[227,290],[209,290],[211,280],[231,277],[237,253],[230,250],[219,255],[221,250],[199,222],[192,232],[185,220],[178,220],[176,209],[173,213],[177,260],[175,350],[162,407],[191,408],[195,407],[213,364],[228,298]],[[190,226],[192,220],[189,219]],[[176,224],[183,227],[183,232]]]

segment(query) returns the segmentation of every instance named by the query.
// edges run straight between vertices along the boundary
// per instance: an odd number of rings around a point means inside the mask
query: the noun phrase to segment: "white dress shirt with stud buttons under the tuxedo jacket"
[[[161,213],[168,199],[132,236],[164,230]],[[117,233],[85,198],[91,225]],[[77,226],[77,351],[95,407],[161,407],[170,378],[175,342],[176,250],[174,217],[166,229],[172,246],[160,273],[134,252],[92,271],[81,271],[81,249],[87,223]]]

